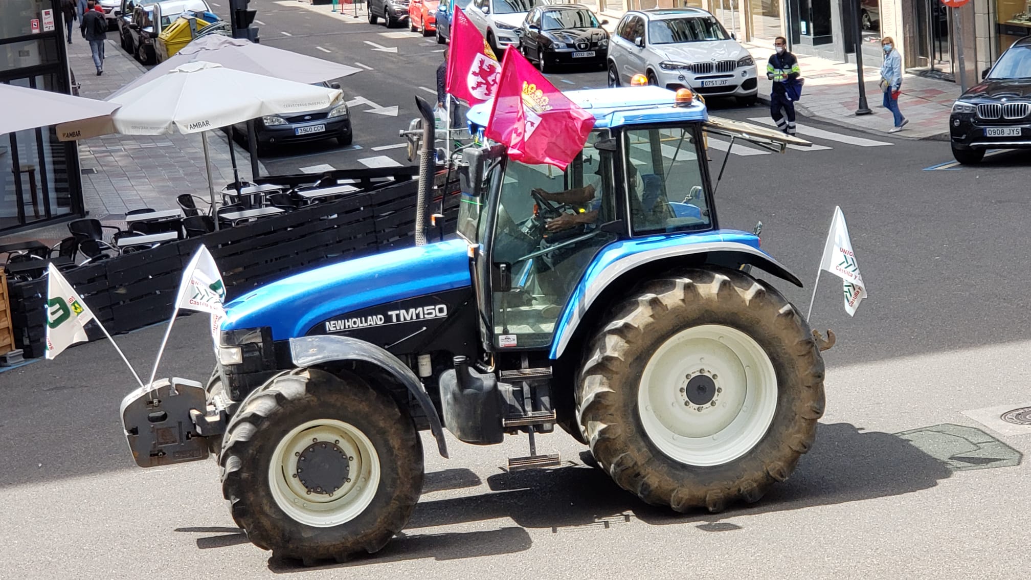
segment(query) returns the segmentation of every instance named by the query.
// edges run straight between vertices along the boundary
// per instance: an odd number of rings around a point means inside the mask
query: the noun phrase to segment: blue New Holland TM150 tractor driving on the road
[[[807,141],[659,87],[566,94],[596,119],[566,170],[476,142],[455,155],[454,238],[229,302],[206,386],[166,379],[123,402],[137,463],[213,453],[250,540],[305,563],[375,552],[404,527],[420,430],[444,457],[444,429],[473,445],[525,433],[514,471],[559,463],[534,441],[558,425],[621,487],[677,512],[756,502],[788,478],[824,412],[822,345],[752,272],[799,280],[758,232],[720,227],[703,133]]]

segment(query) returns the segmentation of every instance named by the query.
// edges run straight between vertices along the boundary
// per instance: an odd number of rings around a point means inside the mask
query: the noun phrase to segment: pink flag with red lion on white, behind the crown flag
[[[447,93],[469,103],[494,98],[501,65],[484,35],[455,6],[452,40],[447,47]]]

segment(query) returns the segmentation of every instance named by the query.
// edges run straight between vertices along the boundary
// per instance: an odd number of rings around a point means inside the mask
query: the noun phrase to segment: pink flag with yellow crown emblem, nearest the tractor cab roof
[[[593,127],[594,116],[563,95],[523,55],[505,53],[485,134],[507,147],[510,159],[565,170]]]

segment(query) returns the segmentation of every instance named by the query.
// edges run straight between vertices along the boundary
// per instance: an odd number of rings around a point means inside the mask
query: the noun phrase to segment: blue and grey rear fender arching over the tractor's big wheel
[[[670,241],[673,241],[670,239]],[[684,245],[658,245],[652,248],[606,247],[588,267],[566,303],[555,337],[551,358],[562,356],[580,332],[581,322],[599,320],[608,303],[629,291],[646,277],[661,275],[678,266],[705,264],[739,268],[751,264],[801,287],[802,282],[768,254],[747,244],[730,240]]]

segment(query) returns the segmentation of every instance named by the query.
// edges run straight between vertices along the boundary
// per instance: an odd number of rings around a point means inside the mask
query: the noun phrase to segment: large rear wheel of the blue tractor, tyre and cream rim
[[[621,487],[719,512],[791,475],[824,413],[823,359],[795,307],[712,268],[643,283],[616,313],[586,353],[576,405]]]

